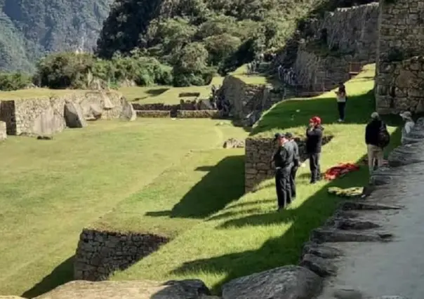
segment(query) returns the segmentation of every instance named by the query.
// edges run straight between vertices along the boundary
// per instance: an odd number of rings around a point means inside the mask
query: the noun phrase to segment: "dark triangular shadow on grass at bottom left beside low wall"
[[[38,284],[34,285],[28,291],[25,291],[21,297],[34,298],[53,288],[66,284],[74,279],[74,256],[68,258],[63,263],[55,267],[55,269],[42,279]]]

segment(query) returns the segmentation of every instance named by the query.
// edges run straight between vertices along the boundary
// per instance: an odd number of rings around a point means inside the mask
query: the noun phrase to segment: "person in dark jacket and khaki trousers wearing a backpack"
[[[371,114],[371,121],[365,128],[365,143],[368,153],[368,168],[371,175],[377,161],[377,167],[383,166],[383,149],[390,143],[390,134],[387,126],[380,119],[377,112]]]

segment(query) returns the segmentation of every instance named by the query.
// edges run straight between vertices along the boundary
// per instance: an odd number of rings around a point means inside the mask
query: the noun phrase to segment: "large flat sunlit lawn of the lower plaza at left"
[[[84,226],[138,194],[187,154],[199,166],[218,163],[230,152],[218,150],[210,160],[196,153],[247,134],[229,121],[219,123],[99,121],[51,141],[9,137],[1,142],[0,294],[20,295],[33,287],[27,294],[39,293],[72,279],[68,258]]]

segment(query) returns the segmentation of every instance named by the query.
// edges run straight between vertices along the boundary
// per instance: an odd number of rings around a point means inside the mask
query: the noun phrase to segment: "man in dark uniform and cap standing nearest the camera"
[[[278,149],[272,157],[275,166],[275,189],[277,191],[278,210],[291,203],[290,171],[293,167],[293,146],[285,135],[275,134]]]

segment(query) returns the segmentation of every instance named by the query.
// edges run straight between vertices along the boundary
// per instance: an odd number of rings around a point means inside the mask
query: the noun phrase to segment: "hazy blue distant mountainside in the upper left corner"
[[[0,71],[34,70],[46,53],[92,51],[113,0],[0,0]]]

